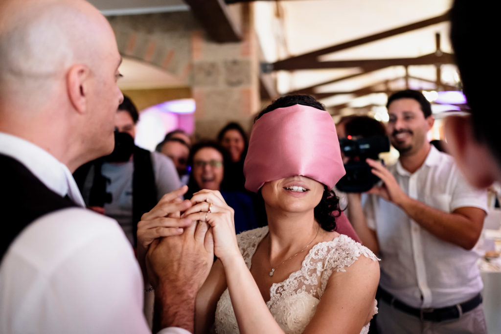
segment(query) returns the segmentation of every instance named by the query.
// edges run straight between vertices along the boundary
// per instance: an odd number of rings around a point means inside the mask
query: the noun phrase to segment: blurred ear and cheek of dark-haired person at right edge
[[[488,187],[495,180],[496,164],[489,149],[473,135],[468,116],[445,119],[447,147],[469,183],[477,188]]]

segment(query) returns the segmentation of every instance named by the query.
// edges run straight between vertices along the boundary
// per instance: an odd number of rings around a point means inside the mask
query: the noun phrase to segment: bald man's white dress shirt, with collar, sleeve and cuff
[[[84,205],[68,168],[40,147],[0,133],[0,153]],[[0,296],[1,333],[151,332],[142,312],[142,275],[123,231],[83,208],[46,214],[18,235],[0,265]]]

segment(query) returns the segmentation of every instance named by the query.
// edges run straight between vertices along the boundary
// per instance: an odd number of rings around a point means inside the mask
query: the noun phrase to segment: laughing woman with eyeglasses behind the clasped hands
[[[201,189],[218,190],[225,202],[235,211],[235,232],[240,233],[258,227],[253,200],[245,193],[229,191],[225,180],[225,168],[229,164],[227,151],[214,141],[200,141],[193,145],[188,157],[191,174],[188,192],[190,199]]]

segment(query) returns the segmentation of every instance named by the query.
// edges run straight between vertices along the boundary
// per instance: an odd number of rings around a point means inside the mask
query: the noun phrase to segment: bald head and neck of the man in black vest
[[[110,153],[120,62],[113,30],[88,2],[0,1],[0,131],[70,170]]]

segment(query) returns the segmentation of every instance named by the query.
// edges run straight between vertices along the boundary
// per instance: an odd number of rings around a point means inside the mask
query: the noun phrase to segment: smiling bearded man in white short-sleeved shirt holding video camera
[[[378,329],[484,333],[482,282],[471,248],[482,229],[486,194],[429,144],[433,118],[420,92],[397,92],[387,108],[399,160],[387,169],[368,159],[383,184],[369,191],[363,213],[356,196],[348,200],[349,210],[360,213],[351,217],[355,230],[381,256]]]

